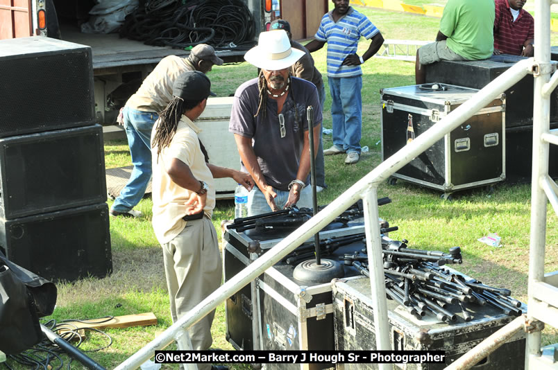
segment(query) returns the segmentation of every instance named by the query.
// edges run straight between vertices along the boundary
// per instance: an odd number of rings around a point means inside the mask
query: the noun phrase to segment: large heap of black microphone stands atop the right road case
[[[363,253],[339,256],[364,276],[370,276],[368,256]],[[382,240],[386,293],[417,319],[427,312],[440,321],[457,321],[456,311],[465,321],[473,319],[471,305],[492,306],[505,315],[520,316],[522,303],[510,297],[509,289],[494,288],[443,268],[463,262],[461,249],[449,253],[407,248],[407,240]]]

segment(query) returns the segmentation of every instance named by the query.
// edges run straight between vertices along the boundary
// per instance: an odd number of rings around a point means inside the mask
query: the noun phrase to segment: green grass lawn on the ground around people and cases
[[[359,8],[380,28],[385,38],[433,39],[439,19],[371,8]],[[555,34],[552,34],[554,39]],[[554,41],[556,41],[554,39]],[[361,42],[360,53],[368,47]],[[325,48],[314,53],[316,66],[326,71]],[[362,146],[369,152],[355,166],[344,165],[344,156],[326,157],[328,188],[319,193],[318,203],[328,204],[346,191],[358,179],[382,161],[380,143],[380,89],[414,84],[414,64],[396,60],[373,58],[364,64]],[[255,67],[246,63],[215,67],[209,73],[212,90],[218,96],[233,94],[248,78],[255,76]],[[327,83],[327,78],[325,78]],[[328,91],[328,87],[326,87]],[[328,94],[324,108],[324,126],[331,127]],[[324,148],[331,144],[324,136]],[[128,146],[124,141],[105,142],[107,168],[129,164]],[[530,184],[498,184],[493,193],[484,188],[457,194],[452,202],[440,200],[440,193],[405,182],[391,186],[381,184],[379,197],[390,197],[392,202],[379,209],[380,217],[399,230],[390,237],[409,240],[409,247],[448,251],[462,248],[464,263],[457,270],[487,283],[509,288],[521,301],[527,298],[527,273],[530,231]],[[108,204],[112,204],[109,201]],[[110,219],[112,261],[114,271],[104,279],[84,279],[74,283],[58,283],[56,310],[47,319],[93,319],[107,315],[130,315],[154,312],[156,326],[112,329],[112,346],[88,353],[108,369],[114,368],[138,351],[171,324],[167,288],[164,281],[162,254],[151,228],[152,202],[145,198],[136,207],[146,217],[139,220]],[[558,270],[558,218],[548,208],[546,234],[546,272]],[[214,225],[220,234],[221,220],[233,218],[233,203],[217,202]],[[502,237],[502,247],[489,247],[477,241],[496,232]],[[221,236],[219,236],[221,238]],[[223,305],[217,309],[214,325],[214,348],[232,349],[226,342]],[[84,349],[100,346],[101,340],[86,340]],[[543,332],[543,344],[558,342],[555,329]],[[19,367],[9,360],[10,366]],[[81,367],[74,362],[72,369]],[[163,369],[171,369],[164,365]],[[246,366],[233,365],[233,369]]]

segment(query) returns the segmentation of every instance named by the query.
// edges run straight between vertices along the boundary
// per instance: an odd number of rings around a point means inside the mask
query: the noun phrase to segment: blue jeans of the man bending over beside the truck
[[[151,179],[151,130],[159,116],[154,112],[142,112],[128,107],[124,108],[122,114],[134,168],[128,184],[112,204],[112,210],[128,212],[142,200]]]

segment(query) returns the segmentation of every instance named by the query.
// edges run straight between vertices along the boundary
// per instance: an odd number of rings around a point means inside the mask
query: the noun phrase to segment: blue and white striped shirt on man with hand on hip
[[[341,66],[341,63],[347,55],[357,53],[361,36],[370,39],[380,31],[353,7],[337,23],[333,21],[331,12],[321,18],[320,28],[314,35],[315,39],[328,43],[328,77],[360,76],[360,66]]]

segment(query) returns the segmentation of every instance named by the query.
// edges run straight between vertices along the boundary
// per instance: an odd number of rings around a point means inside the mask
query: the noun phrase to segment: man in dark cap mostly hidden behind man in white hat
[[[294,41],[291,34],[291,25],[285,19],[275,19],[271,22],[269,30],[285,30],[287,36],[289,36],[289,41],[291,42],[291,47],[304,51],[305,55],[301,59],[296,61],[291,66],[291,76],[302,78],[312,82],[316,89],[318,89],[318,97],[320,99],[320,107],[323,111],[323,104],[326,103],[326,88],[323,86],[323,80],[321,78],[321,73],[316,67],[314,67],[314,58],[302,44]],[[326,171],[323,164],[323,143],[322,136],[320,135],[320,143],[318,151],[316,152],[316,191],[319,193],[323,188],[327,188],[326,185]]]

